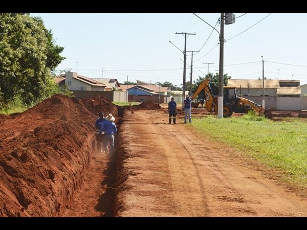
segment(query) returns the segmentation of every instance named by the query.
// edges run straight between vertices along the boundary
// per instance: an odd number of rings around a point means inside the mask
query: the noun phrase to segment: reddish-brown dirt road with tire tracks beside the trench
[[[257,170],[252,160],[195,134],[189,124],[167,124],[166,111],[124,114],[123,169],[117,216],[307,216],[307,201]]]

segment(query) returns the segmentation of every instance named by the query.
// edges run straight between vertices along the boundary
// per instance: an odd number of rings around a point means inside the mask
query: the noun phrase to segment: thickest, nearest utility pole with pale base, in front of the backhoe
[[[223,118],[224,91],[224,13],[221,13],[220,76],[218,77],[217,118]]]

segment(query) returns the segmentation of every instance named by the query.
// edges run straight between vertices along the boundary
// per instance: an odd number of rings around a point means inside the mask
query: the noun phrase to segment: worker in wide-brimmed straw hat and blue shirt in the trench
[[[112,114],[108,114],[105,121],[102,122],[99,133],[104,132],[103,147],[106,153],[111,154],[114,148],[114,134],[117,132],[116,125],[114,123],[115,118]]]

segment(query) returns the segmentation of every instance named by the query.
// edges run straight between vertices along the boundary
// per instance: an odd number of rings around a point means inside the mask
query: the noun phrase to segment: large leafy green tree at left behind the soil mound
[[[45,97],[63,49],[40,17],[0,13],[0,103],[17,98],[31,104]]]

